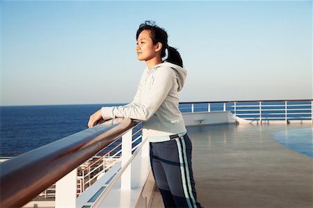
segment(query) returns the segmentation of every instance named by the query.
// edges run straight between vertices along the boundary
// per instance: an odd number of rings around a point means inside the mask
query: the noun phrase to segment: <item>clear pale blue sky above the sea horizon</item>
[[[151,19],[188,70],[180,101],[310,99],[312,1],[1,1],[1,105],[127,103]]]

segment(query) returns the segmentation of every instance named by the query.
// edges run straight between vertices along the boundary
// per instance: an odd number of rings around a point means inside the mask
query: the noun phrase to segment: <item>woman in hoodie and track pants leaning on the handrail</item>
[[[186,78],[182,58],[168,46],[168,35],[152,21],[136,33],[138,60],[147,67],[134,101],[118,107],[102,107],[90,116],[88,127],[102,119],[127,117],[143,121],[143,136],[150,141],[150,162],[165,207],[200,207],[191,168],[191,141],[186,135],[178,92]],[[168,58],[162,60],[168,51]]]

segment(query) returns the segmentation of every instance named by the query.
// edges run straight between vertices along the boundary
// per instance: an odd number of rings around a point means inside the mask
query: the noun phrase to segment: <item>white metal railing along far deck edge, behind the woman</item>
[[[179,103],[184,112],[230,111],[251,121],[312,121],[312,100]]]

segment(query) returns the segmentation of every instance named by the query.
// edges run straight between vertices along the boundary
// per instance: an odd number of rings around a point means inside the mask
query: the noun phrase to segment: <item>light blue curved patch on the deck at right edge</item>
[[[278,143],[313,158],[313,128],[284,130],[273,134]]]

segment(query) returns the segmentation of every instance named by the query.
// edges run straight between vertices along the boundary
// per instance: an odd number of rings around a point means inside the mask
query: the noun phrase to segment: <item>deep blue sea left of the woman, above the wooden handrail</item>
[[[89,116],[108,105],[122,104],[2,106],[0,153],[26,153],[85,130]]]

